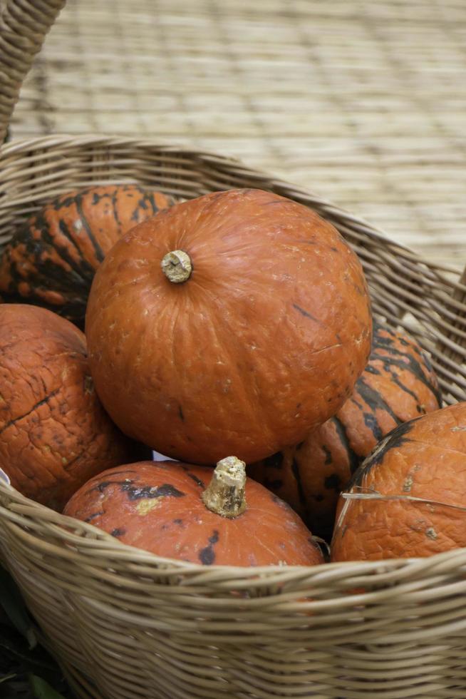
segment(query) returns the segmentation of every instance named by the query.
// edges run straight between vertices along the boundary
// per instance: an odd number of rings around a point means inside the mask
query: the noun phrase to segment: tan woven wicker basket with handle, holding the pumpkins
[[[3,132],[61,6],[4,2]],[[465,399],[464,278],[237,161],[118,137],[9,143],[1,150],[1,242],[44,200],[109,181],[184,198],[254,186],[314,208],[360,255],[374,312],[432,354],[446,402]],[[315,568],[205,568],[120,544],[0,479],[0,552],[82,698],[466,697],[464,549]]]

